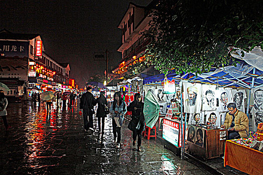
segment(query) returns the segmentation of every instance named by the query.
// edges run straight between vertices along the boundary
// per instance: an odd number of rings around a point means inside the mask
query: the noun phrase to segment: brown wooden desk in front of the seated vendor
[[[193,155],[199,155],[204,159],[219,157],[221,154],[223,154],[227,137],[227,130],[206,128],[201,129],[204,130],[204,145],[203,147],[201,147],[192,142],[189,142],[189,153]],[[224,132],[225,136],[220,137],[220,132]]]

